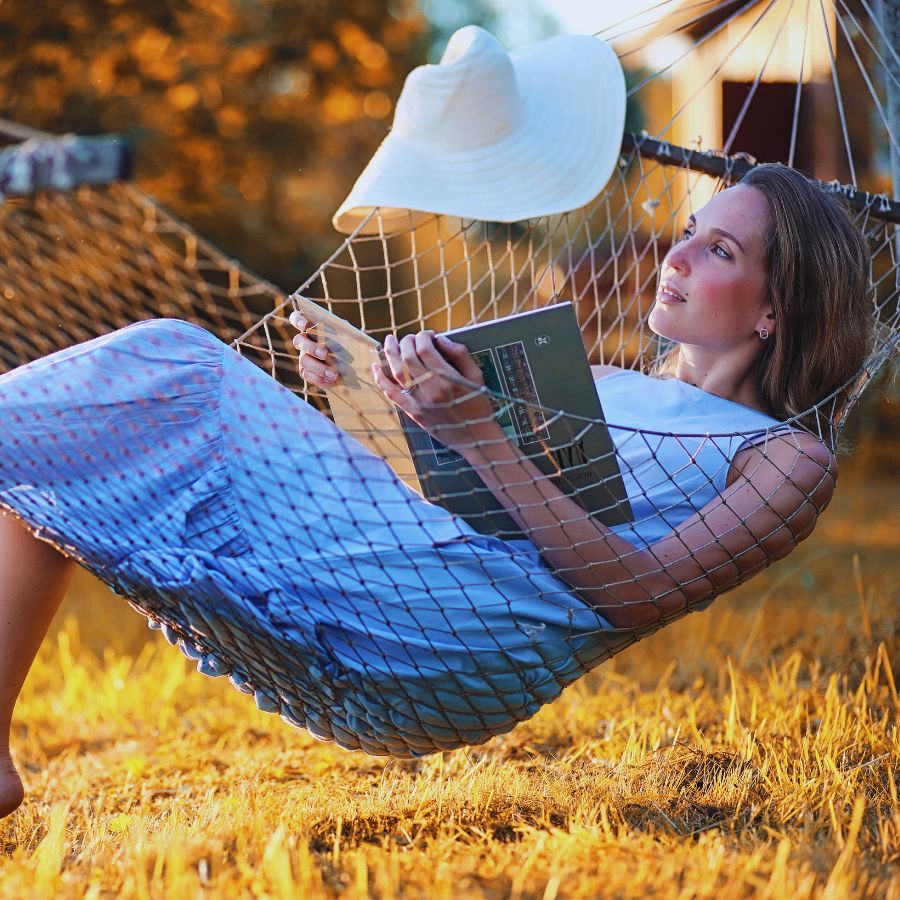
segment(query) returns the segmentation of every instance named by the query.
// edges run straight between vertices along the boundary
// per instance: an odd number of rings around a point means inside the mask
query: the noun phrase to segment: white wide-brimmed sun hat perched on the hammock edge
[[[564,35],[507,53],[457,31],[438,65],[410,72],[391,132],[333,218],[390,233],[440,213],[516,222],[584,206],[619,158],[625,77],[599,38]],[[380,221],[379,221],[380,220]]]

